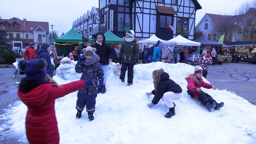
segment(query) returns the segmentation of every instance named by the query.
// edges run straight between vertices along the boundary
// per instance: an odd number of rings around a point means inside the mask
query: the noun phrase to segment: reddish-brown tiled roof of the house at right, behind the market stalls
[[[241,15],[234,15],[234,16],[227,16],[227,15],[218,15],[218,14],[211,14],[206,13],[206,15],[216,24],[216,26],[220,27],[223,22],[226,24],[234,25],[240,18],[242,18],[243,14]]]

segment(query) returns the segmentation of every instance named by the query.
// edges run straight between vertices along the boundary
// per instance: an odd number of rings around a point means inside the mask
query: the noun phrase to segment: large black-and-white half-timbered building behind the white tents
[[[193,40],[196,11],[202,9],[197,0],[99,0],[99,7],[101,32],[123,37],[123,28],[129,28],[139,40],[153,34],[163,40],[178,35]]]

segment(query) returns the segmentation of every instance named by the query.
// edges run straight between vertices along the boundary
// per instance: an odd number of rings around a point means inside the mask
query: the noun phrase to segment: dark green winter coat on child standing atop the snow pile
[[[132,42],[126,42],[121,46],[119,58],[122,58],[122,62],[133,64],[135,59],[139,60],[139,47],[137,38],[134,38]]]

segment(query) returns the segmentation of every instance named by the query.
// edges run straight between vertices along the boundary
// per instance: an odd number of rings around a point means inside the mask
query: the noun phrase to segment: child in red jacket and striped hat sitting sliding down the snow
[[[195,67],[195,73],[191,74],[190,76],[186,77],[185,79],[188,81],[188,94],[195,99],[198,99],[200,102],[203,103],[203,105],[211,112],[214,109],[218,110],[223,107],[224,103],[217,103],[213,98],[203,92],[201,90],[201,87],[207,88],[207,89],[216,89],[211,84],[207,84],[202,79],[203,75],[203,69],[200,66]]]

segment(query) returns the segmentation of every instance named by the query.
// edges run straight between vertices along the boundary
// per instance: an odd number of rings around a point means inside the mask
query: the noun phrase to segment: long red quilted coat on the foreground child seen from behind
[[[84,86],[84,81],[79,80],[63,84],[61,87],[45,83],[26,93],[18,91],[20,100],[28,106],[26,134],[30,144],[59,144],[60,136],[54,110],[55,99]]]

